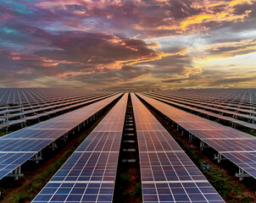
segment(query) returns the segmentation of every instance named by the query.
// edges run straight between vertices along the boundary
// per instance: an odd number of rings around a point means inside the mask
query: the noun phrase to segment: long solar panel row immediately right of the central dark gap
[[[225,202],[170,134],[131,94],[144,203]]]

